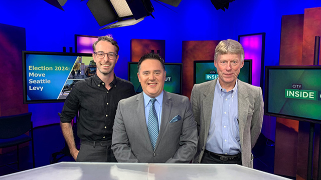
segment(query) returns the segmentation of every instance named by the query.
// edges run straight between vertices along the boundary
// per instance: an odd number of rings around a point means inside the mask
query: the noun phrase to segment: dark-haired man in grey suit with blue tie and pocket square
[[[112,135],[118,162],[188,163],[197,127],[188,97],[165,91],[164,60],[147,53],[138,61],[142,93],[120,100]]]

